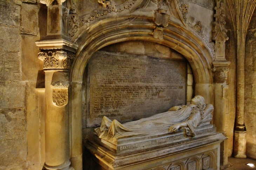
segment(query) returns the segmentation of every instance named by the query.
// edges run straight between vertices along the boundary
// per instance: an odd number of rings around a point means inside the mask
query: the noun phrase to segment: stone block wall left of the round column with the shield
[[[0,169],[42,169],[35,88],[42,9],[36,0],[2,0],[0,8]]]

